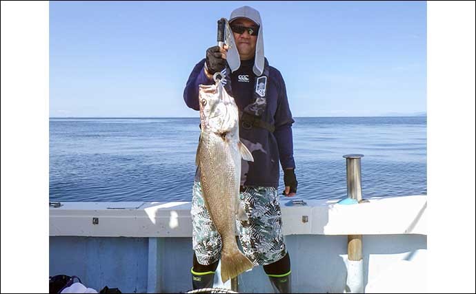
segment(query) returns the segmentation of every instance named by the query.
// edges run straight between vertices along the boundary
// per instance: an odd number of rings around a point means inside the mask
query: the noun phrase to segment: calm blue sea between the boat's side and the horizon
[[[299,198],[344,198],[344,154],[364,154],[364,198],[426,194],[426,117],[295,120]],[[50,119],[50,200],[190,201],[198,125],[199,118]],[[282,173],[280,182],[279,191]]]

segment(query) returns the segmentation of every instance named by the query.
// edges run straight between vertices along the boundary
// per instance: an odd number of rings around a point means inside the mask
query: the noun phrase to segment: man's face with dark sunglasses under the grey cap
[[[245,26],[248,28],[255,28],[255,32],[257,32],[258,25],[249,19],[235,19],[230,23],[230,26]],[[255,56],[256,50],[256,41],[258,36],[252,36],[248,30],[244,30],[241,34],[237,32],[233,32],[233,36],[235,37],[235,44],[237,45],[237,50],[239,53],[239,58],[241,60],[248,60],[252,59]]]

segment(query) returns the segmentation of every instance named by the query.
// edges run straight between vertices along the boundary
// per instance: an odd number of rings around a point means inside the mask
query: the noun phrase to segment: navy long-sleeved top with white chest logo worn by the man
[[[184,90],[186,105],[195,110],[199,110],[199,85],[214,83],[206,76],[204,64],[205,59],[195,65]],[[232,96],[240,110],[254,102],[253,64],[254,60],[241,61],[240,68],[230,77]],[[259,127],[239,128],[241,142],[248,147],[255,159],[254,162],[241,160],[241,185],[277,188],[279,183],[278,161],[281,162],[282,169],[295,168],[291,129],[294,120],[289,109],[284,79],[281,73],[272,66],[269,67],[266,111],[262,119],[266,123],[274,125],[275,132],[270,133],[267,129]]]

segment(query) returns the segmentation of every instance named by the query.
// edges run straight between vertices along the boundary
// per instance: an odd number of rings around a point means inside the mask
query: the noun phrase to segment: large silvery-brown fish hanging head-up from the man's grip
[[[253,161],[239,140],[238,107],[223,85],[199,85],[201,134],[196,163],[200,168],[204,202],[221,236],[221,280],[251,269],[252,262],[239,251],[235,220],[246,219],[239,204],[241,158]]]

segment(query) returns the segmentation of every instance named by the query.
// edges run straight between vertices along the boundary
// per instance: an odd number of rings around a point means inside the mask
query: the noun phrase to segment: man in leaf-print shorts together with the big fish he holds
[[[286,85],[264,56],[259,12],[237,8],[228,25],[232,44],[208,48],[184,90],[186,105],[199,110],[201,119],[192,189],[192,284],[212,288],[221,259],[224,282],[263,265],[275,293],[291,293],[277,191],[279,164],[283,194],[297,191]]]

